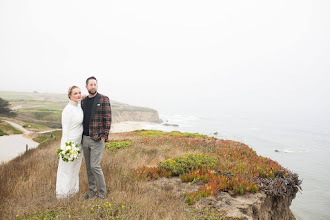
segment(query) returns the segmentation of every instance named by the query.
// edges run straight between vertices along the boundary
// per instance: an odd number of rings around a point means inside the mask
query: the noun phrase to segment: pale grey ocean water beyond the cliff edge
[[[176,126],[148,125],[145,129],[198,132],[243,142],[259,155],[278,161],[303,180],[291,210],[297,219],[330,219],[330,128],[327,123],[270,121],[258,117],[223,115],[217,118],[160,114]],[[275,152],[275,150],[279,152]]]

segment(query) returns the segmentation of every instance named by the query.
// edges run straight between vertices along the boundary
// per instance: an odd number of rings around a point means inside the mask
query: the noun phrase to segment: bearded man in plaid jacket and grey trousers
[[[107,96],[97,92],[97,80],[94,76],[86,80],[86,89],[89,95],[82,100],[81,107],[84,111],[84,132],[82,148],[84,151],[89,193],[85,199],[97,196],[104,199],[106,185],[100,166],[102,152],[111,126],[111,106]]]

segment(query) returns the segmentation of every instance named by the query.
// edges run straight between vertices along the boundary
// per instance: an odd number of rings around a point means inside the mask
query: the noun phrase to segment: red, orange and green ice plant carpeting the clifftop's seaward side
[[[219,191],[235,194],[255,193],[259,187],[267,188],[269,194],[280,195],[279,190],[282,184],[287,181],[276,180],[277,185],[272,185],[274,189],[261,185],[273,182],[275,178],[285,178],[290,175],[291,185],[299,187],[298,176],[284,169],[277,162],[258,156],[257,153],[247,145],[235,141],[225,141],[206,136],[194,137],[187,133],[175,132],[160,133],[159,131],[136,131],[142,137],[161,137],[163,141],[172,142],[181,148],[200,149],[203,154],[187,154],[179,157],[172,157],[162,161],[156,167],[142,167],[136,170],[137,174],[148,180],[158,179],[159,177],[179,176],[183,182],[195,183],[202,181],[205,183],[197,192],[187,193],[186,201],[194,203],[200,197],[215,195]],[[152,135],[153,133],[157,134]],[[147,135],[146,135],[147,134]],[[169,139],[169,137],[176,137]],[[188,138],[187,138],[188,137]],[[189,138],[192,137],[192,138]],[[155,141],[146,140],[144,141]],[[259,183],[259,184],[258,184]],[[292,189],[294,191],[294,189]],[[285,193],[286,189],[283,188]],[[276,193],[275,193],[276,192]]]

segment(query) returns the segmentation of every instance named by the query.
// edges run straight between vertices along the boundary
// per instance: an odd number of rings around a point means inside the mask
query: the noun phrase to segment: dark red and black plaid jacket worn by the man
[[[87,97],[86,97],[87,98]],[[84,110],[87,102],[82,100],[81,107]],[[92,107],[91,118],[89,122],[89,136],[94,141],[100,141],[104,137],[105,142],[111,127],[111,105],[107,96],[97,93]]]

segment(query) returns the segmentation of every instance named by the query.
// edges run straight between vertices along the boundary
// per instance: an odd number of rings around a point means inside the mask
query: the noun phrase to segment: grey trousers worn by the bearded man
[[[99,189],[100,195],[105,195],[107,192],[104,175],[100,166],[102,159],[102,152],[105,143],[102,141],[94,141],[89,136],[83,136],[82,148],[84,151],[89,191],[97,192]]]

